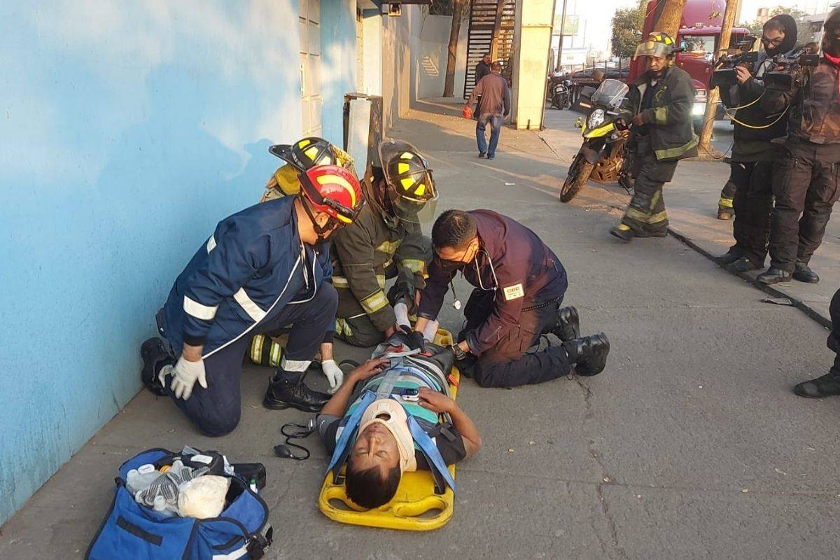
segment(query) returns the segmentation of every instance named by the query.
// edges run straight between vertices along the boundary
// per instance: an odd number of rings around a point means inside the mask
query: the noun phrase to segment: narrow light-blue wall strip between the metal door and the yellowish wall
[[[356,91],[355,0],[321,0],[321,38],[321,128],[325,139],[340,146],[344,144],[344,93]]]

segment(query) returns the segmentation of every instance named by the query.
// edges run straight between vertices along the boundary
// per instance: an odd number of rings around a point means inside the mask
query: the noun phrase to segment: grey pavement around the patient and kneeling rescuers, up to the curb
[[[485,447],[458,468],[453,519],[428,534],[318,512],[325,456],[314,438],[308,461],[271,457],[281,423],[304,415],[260,408],[267,369],[247,368],[242,424],[215,440],[141,392],[3,526],[0,557],[79,556],[118,464],[184,443],[266,464],[272,558],[840,557],[840,399],[790,392],[827,370],[826,331],[761,304],[758,290],[675,238],[617,243],[609,207],[559,203],[564,164],[535,134],[505,129],[488,162],[472,123],[427,113],[452,107],[420,109],[392,135],[428,154],[438,212],[491,208],[533,228],[569,272],[565,302],[585,333],[610,337],[606,371],[512,390],[465,381],[459,402]],[[449,303],[444,327],[457,329]]]

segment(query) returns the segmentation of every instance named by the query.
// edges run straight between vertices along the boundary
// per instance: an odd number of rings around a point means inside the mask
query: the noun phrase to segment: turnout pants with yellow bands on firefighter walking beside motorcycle
[[[645,148],[647,144],[648,148]],[[674,176],[678,160],[657,160],[649,141],[640,139],[634,157],[633,176],[636,185],[633,198],[624,212],[619,228],[630,228],[633,235],[645,237],[649,233],[668,228],[668,212],[662,197],[662,187]]]

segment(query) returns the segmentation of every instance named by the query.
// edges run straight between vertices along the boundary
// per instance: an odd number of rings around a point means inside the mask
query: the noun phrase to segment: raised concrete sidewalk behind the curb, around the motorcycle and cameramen
[[[580,131],[574,128],[581,113],[546,109],[546,129],[539,136],[558,159],[568,167],[580,147]],[[732,126],[716,123],[714,148],[727,152],[732,144]],[[561,175],[562,177],[563,175]],[[674,181],[665,186],[664,199],[672,233],[707,257],[724,254],[732,245],[732,221],[717,219],[717,199],[729,177],[729,165],[715,161],[686,160],[677,166]],[[617,185],[601,186],[591,182],[572,204],[601,202],[623,208],[629,201]],[[769,265],[769,257],[766,261]],[[819,284],[803,284],[792,280],[773,286],[759,285],[754,279],[759,272],[743,274],[744,280],[766,291],[772,298],[788,298],[817,322],[828,326],[828,304],[840,287],[840,218],[828,222],[822,246],[811,260],[811,268],[820,275]]]

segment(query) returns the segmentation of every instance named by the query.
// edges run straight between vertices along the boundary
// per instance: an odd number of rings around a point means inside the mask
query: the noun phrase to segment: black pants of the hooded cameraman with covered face
[[[770,216],[773,212],[771,185],[772,161],[733,161],[730,181],[735,185],[732,207],[732,237],[735,244],[730,254],[746,257],[756,266],[764,266]]]

